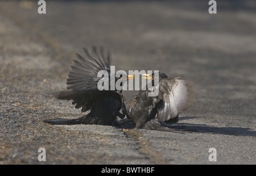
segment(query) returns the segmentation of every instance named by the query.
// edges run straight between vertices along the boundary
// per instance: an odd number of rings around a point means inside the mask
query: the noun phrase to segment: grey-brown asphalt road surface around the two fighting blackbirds
[[[217,1],[217,14],[208,1],[38,7],[0,2],[0,164],[256,164],[255,1]],[[43,123],[82,116],[52,93],[65,88],[75,53],[91,45],[109,49],[116,70],[192,81],[195,102],[172,125],[192,133]],[[123,91],[126,106],[137,93]]]

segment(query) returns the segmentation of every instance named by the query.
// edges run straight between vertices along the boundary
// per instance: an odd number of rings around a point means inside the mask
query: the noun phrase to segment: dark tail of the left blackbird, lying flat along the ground
[[[81,116],[78,119],[47,119],[44,120],[45,123],[53,124],[53,125],[76,125],[76,124],[96,124],[96,121],[91,118],[90,114]]]

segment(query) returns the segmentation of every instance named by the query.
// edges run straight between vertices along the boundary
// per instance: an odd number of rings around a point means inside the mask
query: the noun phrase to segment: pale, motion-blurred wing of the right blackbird
[[[164,78],[159,81],[158,97],[163,100],[158,106],[159,121],[174,119],[191,106],[192,83],[180,78]]]

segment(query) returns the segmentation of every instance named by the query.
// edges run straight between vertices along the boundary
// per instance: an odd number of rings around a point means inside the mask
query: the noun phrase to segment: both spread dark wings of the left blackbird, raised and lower
[[[103,48],[99,50],[92,47],[92,52],[89,53],[84,48],[86,57],[77,54],[68,73],[67,90],[61,91],[56,96],[59,99],[72,99],[72,104],[76,104],[76,108],[82,107],[82,112],[90,110],[97,97],[113,93],[107,90],[100,91],[97,88],[98,81],[102,79],[97,77],[100,70],[105,70],[110,76],[109,52],[105,55]]]

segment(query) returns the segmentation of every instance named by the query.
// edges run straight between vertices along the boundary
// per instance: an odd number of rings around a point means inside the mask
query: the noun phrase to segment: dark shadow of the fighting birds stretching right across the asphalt
[[[192,132],[192,133],[212,133],[220,135],[232,135],[232,136],[256,136],[256,131],[253,131],[251,128],[242,128],[242,127],[214,127],[207,124],[192,124],[192,123],[180,123],[182,120],[195,119],[196,117],[180,117],[179,123],[170,124],[166,127]],[[131,129],[135,125],[133,122],[129,122],[121,125],[122,128]]]

